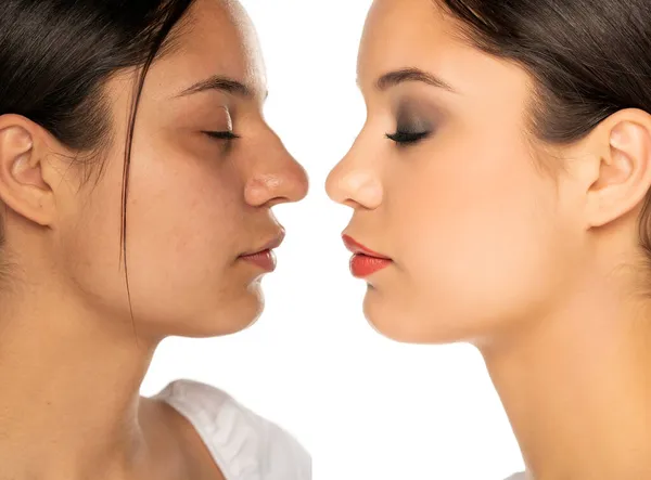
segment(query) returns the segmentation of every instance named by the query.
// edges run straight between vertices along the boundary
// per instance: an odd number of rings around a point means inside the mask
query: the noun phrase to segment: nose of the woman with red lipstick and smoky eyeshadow
[[[362,161],[357,143],[328,176],[326,191],[332,200],[354,209],[373,210],[382,204],[383,187],[378,166]]]

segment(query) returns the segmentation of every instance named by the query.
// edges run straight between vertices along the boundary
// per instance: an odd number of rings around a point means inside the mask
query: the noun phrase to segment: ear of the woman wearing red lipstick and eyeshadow
[[[627,108],[603,120],[587,140],[587,223],[602,226],[641,206],[651,187],[651,115]]]

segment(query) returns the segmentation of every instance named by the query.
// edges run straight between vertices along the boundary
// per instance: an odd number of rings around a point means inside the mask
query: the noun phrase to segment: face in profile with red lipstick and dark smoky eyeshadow
[[[376,0],[358,57],[367,120],[328,179],[354,209],[365,312],[413,342],[478,340],[545,313],[577,251],[551,163],[527,132],[520,67],[459,35],[430,0]]]

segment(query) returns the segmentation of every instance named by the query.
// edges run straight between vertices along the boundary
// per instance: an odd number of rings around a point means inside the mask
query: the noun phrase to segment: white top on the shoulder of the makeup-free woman
[[[311,458],[303,446],[226,392],[177,380],[155,398],[192,424],[226,480],[311,480]]]

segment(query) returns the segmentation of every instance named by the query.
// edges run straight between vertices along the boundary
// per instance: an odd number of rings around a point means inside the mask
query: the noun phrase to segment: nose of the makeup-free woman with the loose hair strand
[[[253,207],[299,202],[307,195],[309,181],[305,169],[286,151],[278,135],[260,145],[260,161],[256,163],[244,190]]]

